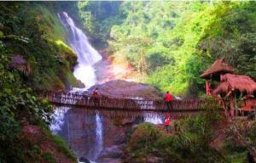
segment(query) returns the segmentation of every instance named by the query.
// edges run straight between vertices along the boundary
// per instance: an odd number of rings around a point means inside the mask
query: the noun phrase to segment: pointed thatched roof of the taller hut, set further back
[[[224,62],[224,59],[216,60],[211,67],[209,67],[202,75],[201,78],[210,78],[213,74],[220,72],[233,72],[233,68]]]

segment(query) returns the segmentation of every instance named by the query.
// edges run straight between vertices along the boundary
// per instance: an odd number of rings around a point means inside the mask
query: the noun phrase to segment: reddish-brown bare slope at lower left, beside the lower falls
[[[26,145],[26,162],[61,162],[74,163],[74,155],[68,154],[69,149],[56,144],[54,136],[39,126],[25,125],[20,135],[20,142]],[[29,149],[32,146],[32,149]]]

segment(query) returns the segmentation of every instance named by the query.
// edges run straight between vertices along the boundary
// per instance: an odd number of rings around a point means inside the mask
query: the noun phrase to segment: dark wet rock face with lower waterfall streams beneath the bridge
[[[98,163],[104,148],[125,143],[125,134],[134,124],[145,121],[143,116],[120,118],[88,114],[84,109],[58,106],[55,108],[50,129],[64,138],[79,158]],[[153,120],[153,119],[151,119]]]

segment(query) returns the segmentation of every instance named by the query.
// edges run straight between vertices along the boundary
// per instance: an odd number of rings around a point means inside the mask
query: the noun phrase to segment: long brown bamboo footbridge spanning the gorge
[[[73,108],[73,111],[86,113],[100,113],[102,115],[194,115],[207,108],[216,106],[215,101],[200,99],[173,100],[172,109],[166,109],[166,102],[159,99],[143,99],[137,97],[94,97],[82,95],[79,93],[49,93],[47,98],[55,106],[67,106]]]

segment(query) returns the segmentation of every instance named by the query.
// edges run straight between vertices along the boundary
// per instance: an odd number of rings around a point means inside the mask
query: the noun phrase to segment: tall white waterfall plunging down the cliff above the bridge
[[[69,44],[78,56],[78,65],[75,66],[73,74],[89,88],[96,84],[96,74],[93,65],[102,59],[102,56],[92,48],[88,38],[73,22],[66,12],[58,14],[62,25],[69,32]]]

